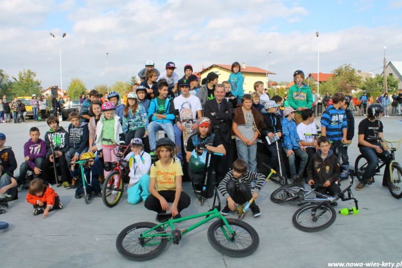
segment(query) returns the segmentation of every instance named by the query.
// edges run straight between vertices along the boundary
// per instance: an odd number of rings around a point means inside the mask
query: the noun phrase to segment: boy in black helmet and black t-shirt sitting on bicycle
[[[378,164],[378,158],[381,158],[384,162],[387,162],[384,176],[382,179],[382,186],[388,186],[389,176],[389,161],[391,160],[388,146],[383,140],[384,138],[384,126],[382,125],[381,114],[384,108],[380,104],[372,104],[367,109],[367,118],[363,119],[359,124],[358,138],[359,150],[361,154],[367,160],[367,166],[362,174],[360,183],[356,186],[356,190],[360,191],[367,184],[372,184],[373,174]]]

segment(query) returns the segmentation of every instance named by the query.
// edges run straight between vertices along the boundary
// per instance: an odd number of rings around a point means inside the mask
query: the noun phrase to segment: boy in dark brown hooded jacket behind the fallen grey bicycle
[[[336,155],[330,150],[330,140],[321,136],[318,139],[319,150],[313,155],[308,167],[307,174],[310,186],[318,184],[316,191],[322,194],[328,194],[335,196],[341,192],[339,186],[335,183],[339,177],[339,163]],[[321,186],[322,185],[322,186]],[[332,203],[333,206],[337,206],[337,203]]]

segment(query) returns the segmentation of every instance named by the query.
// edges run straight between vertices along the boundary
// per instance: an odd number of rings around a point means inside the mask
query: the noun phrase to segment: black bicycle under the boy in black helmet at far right
[[[402,198],[402,167],[400,166],[399,162],[395,160],[395,152],[399,149],[400,144],[402,143],[402,138],[400,138],[398,141],[387,141],[382,138],[378,138],[377,140],[381,140],[386,142],[389,146],[389,150],[391,151],[391,161],[389,163],[389,171],[384,170],[384,172],[389,172],[389,178],[388,178],[388,190],[389,193],[394,198],[400,199]],[[396,147],[393,146],[392,143],[398,143]],[[386,165],[387,161],[380,161],[377,164],[377,167],[374,171],[374,174],[372,175],[371,180],[367,184],[372,184],[374,182],[374,176],[379,175],[381,167]],[[360,181],[363,173],[367,167],[367,159],[360,154],[357,156],[356,161],[355,161],[355,173],[356,177]]]

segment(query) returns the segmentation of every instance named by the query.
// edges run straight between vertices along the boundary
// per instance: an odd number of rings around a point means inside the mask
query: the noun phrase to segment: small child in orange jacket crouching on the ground
[[[33,214],[43,213],[43,218],[50,211],[63,208],[59,196],[50,187],[50,184],[46,186],[41,178],[34,178],[29,184],[27,202],[34,205]]]

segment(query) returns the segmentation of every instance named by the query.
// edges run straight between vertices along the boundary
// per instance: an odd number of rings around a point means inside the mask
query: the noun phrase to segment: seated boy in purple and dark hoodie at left
[[[41,133],[37,127],[32,127],[29,130],[31,137],[24,144],[25,161],[20,166],[20,177],[18,178],[18,192],[24,188],[27,171],[34,171],[34,176],[37,177],[42,173],[42,162],[46,157],[46,143],[40,139]]]

